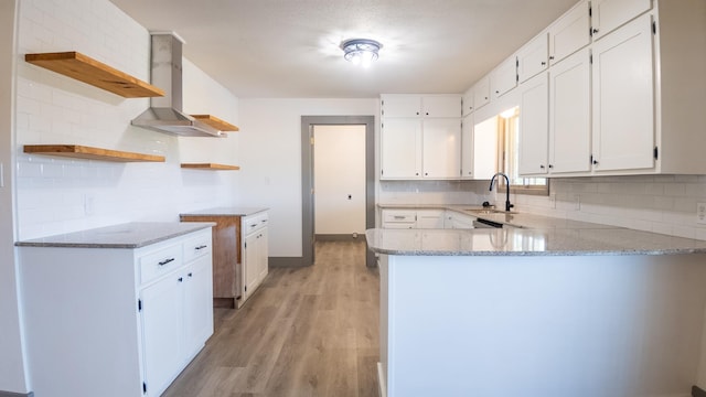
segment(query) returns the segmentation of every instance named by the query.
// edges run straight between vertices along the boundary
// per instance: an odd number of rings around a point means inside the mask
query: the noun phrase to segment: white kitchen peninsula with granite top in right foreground
[[[691,396],[706,242],[534,217],[366,232],[382,396]]]

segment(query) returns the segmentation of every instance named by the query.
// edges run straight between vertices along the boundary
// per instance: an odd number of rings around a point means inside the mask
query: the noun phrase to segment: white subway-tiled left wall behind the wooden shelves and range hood
[[[180,212],[233,202],[237,173],[182,171],[180,162],[194,143],[130,126],[149,106],[149,99],[126,99],[24,62],[25,53],[79,51],[149,81],[150,37],[143,26],[107,0],[28,0],[19,4],[19,239],[124,222],[178,221]],[[203,74],[188,66],[190,73]],[[184,74],[186,81],[186,67]],[[197,77],[200,85],[210,84]],[[207,105],[211,99],[190,100]],[[223,109],[223,95],[217,100],[215,106]],[[237,124],[237,98],[226,98],[225,104],[231,111],[217,116]],[[190,110],[186,103],[184,110]],[[212,141],[200,142],[197,149],[220,158],[202,155],[201,162],[237,164],[236,139],[204,139]],[[167,162],[111,163],[24,154],[22,146],[32,143],[157,153],[165,155]],[[189,161],[199,158],[191,157]]]

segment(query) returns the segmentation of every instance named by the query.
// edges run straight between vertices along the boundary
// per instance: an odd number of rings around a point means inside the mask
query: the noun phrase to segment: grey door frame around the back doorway
[[[365,126],[365,228],[375,227],[375,116],[301,116],[301,259],[313,265],[313,126]],[[367,248],[367,243],[366,243]],[[375,254],[365,250],[365,266],[374,267]]]

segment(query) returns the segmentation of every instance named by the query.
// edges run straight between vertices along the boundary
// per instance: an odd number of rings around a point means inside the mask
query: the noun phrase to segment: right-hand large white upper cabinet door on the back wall
[[[424,178],[458,179],[461,176],[461,121],[424,120]]]

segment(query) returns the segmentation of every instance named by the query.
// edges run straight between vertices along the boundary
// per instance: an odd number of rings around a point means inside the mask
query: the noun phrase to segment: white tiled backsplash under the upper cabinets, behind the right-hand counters
[[[501,203],[488,181],[382,181],[385,204]],[[516,211],[706,240],[696,222],[706,203],[706,175],[639,175],[553,179],[549,196],[512,194]]]

